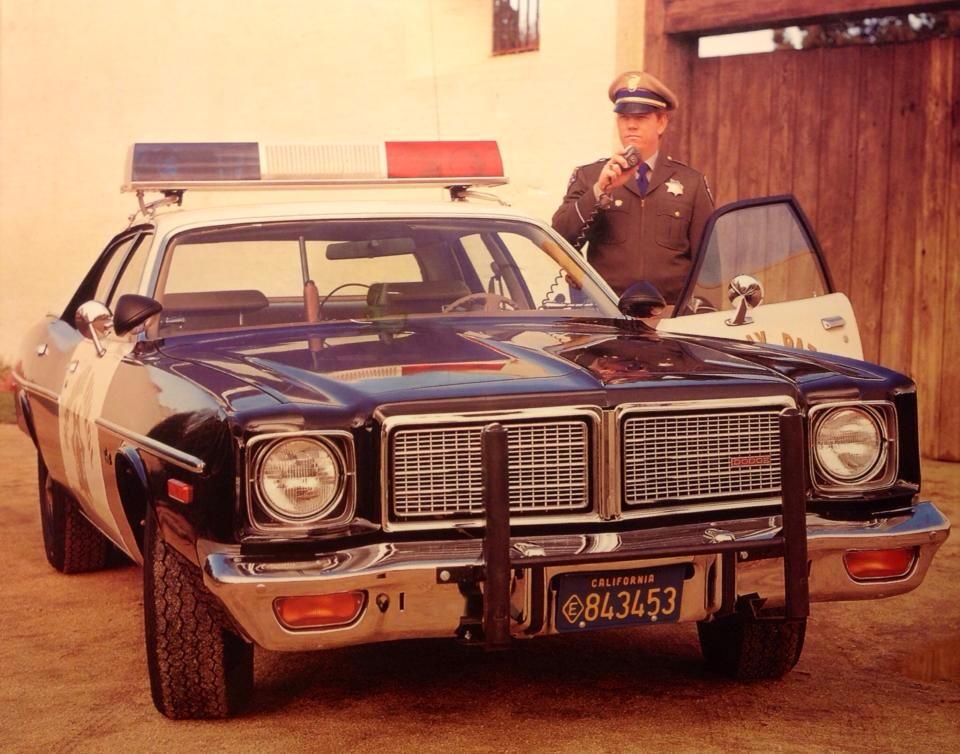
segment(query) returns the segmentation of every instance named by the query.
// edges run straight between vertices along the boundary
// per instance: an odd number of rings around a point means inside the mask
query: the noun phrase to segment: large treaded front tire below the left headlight
[[[147,515],[143,612],[150,691],[175,720],[228,717],[253,687],[253,645],[226,626],[200,569],[168,545]]]

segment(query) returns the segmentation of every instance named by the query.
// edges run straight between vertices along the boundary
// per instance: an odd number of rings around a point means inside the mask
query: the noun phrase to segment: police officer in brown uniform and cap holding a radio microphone
[[[623,148],[574,170],[553,227],[622,294],[648,280],[675,303],[686,281],[713,197],[693,168],[664,155],[660,142],[677,98],[656,77],[627,71],[610,85]],[[633,147],[640,162],[631,167]]]

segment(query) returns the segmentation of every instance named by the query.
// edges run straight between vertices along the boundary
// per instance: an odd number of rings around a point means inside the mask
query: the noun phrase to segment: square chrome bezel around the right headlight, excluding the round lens
[[[880,434],[880,450],[870,469],[852,480],[838,478],[825,468],[817,453],[817,433],[823,422],[838,411],[859,410],[876,425]],[[897,481],[899,468],[897,410],[890,401],[834,401],[810,408],[809,453],[814,488],[832,495],[859,495],[891,487]]]

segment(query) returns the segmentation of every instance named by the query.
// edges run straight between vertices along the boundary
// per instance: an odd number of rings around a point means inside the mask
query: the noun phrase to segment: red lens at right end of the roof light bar
[[[495,141],[388,141],[388,178],[491,178],[503,175]]]

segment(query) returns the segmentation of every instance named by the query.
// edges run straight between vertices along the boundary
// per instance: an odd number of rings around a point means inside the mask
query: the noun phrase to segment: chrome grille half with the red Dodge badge
[[[623,422],[623,502],[780,491],[779,409],[642,414]]]

